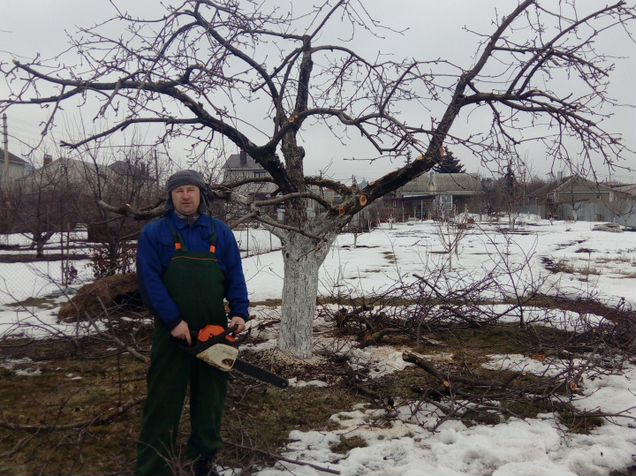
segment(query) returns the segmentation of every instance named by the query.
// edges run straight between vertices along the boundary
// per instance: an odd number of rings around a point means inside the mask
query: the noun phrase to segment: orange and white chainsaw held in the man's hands
[[[261,382],[287,388],[287,379],[238,358],[238,340],[234,337],[233,331],[233,328],[224,329],[222,326],[210,324],[199,331],[196,342],[191,346],[182,339],[172,340],[180,349],[223,372],[238,370]]]

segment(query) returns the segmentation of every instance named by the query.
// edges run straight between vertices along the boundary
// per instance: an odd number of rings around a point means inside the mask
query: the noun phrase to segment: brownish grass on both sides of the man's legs
[[[147,335],[140,339],[147,339]],[[104,425],[62,431],[53,428],[90,420],[143,396],[146,366],[107,350],[111,348],[108,343],[91,339],[84,339],[79,349],[53,340],[18,344],[13,342],[6,349],[21,363],[12,369],[0,368],[0,420],[42,428],[22,431],[0,424],[0,455],[5,456],[0,458],[0,474],[132,474],[142,405]],[[16,375],[16,370],[27,368],[38,368],[41,373]],[[361,401],[346,388],[282,391],[240,376],[230,387],[224,422],[226,449],[221,460],[228,466],[251,464],[240,447],[245,442],[276,451],[291,430],[327,428],[333,413],[349,410]],[[178,440],[181,448],[186,444],[187,422],[186,409],[184,434]]]

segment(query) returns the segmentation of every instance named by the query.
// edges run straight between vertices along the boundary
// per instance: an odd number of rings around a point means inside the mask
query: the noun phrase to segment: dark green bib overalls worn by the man
[[[163,276],[168,293],[188,323],[192,339],[207,324],[227,327],[223,305],[224,276],[215,257],[216,233],[210,251],[189,252],[184,240],[170,228],[175,252]],[[214,225],[213,225],[214,226]],[[137,476],[171,475],[176,462],[176,437],[186,389],[190,384],[191,460],[221,447],[221,418],[227,392],[227,373],[180,350],[170,332],[156,319],[148,371],[148,399],[137,448]]]

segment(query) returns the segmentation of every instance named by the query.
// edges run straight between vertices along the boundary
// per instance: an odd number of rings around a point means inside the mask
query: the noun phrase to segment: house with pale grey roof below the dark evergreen
[[[482,193],[477,175],[427,172],[398,188],[394,206],[403,210],[404,219],[461,212]]]

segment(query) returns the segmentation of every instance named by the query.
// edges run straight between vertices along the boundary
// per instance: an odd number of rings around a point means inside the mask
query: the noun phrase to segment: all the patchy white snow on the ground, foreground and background
[[[440,286],[452,288],[460,280],[466,285],[479,280],[494,267],[500,286],[490,297],[513,292],[513,286],[539,286],[547,293],[594,297],[610,305],[636,307],[636,233],[594,231],[594,223],[554,222],[532,219],[513,234],[503,234],[492,224],[477,225],[460,240],[452,263],[446,262],[440,230],[433,222],[385,224],[371,233],[359,235],[358,247],[351,234],[341,235],[321,269],[320,294],[362,295],[388,289],[401,279],[414,280],[444,267]],[[277,299],[283,284],[283,262],[278,240],[263,230],[237,232],[242,249],[250,243],[244,258],[250,298],[253,302]],[[17,238],[16,238],[17,240]],[[270,241],[271,240],[271,241]],[[254,255],[254,251],[260,254]],[[247,253],[246,253],[247,254]],[[546,270],[545,258],[557,272]],[[76,263],[82,279],[90,279],[85,262]],[[452,268],[452,269],[451,269]],[[513,270],[504,272],[503,270]],[[560,270],[560,271],[559,271]],[[72,332],[55,321],[56,306],[63,300],[56,285],[59,264],[0,263],[0,336],[24,333],[44,334],[51,328]],[[56,294],[50,309],[16,308],[16,300]],[[255,306],[258,319],[271,308]],[[532,312],[528,310],[527,312]],[[568,313],[557,319],[565,327],[576,327],[576,316]],[[595,319],[595,316],[588,316]],[[264,317],[263,317],[264,318]],[[38,330],[39,329],[39,330]],[[267,346],[268,344],[265,344]],[[271,344],[270,344],[271,345]],[[396,371],[406,364],[392,348],[358,349],[360,362],[375,362],[377,374]],[[521,355],[493,355],[492,368],[546,371],[546,362]],[[550,362],[558,368],[558,362]],[[25,378],[37,378],[25,376]],[[293,382],[294,385],[321,385],[320,382]],[[342,475],[435,475],[435,476],[606,476],[612,470],[636,464],[636,367],[621,375],[589,379],[580,408],[614,413],[617,416],[588,435],[567,434],[554,415],[539,415],[524,421],[510,419],[496,425],[466,427],[447,421],[433,429],[435,408],[409,402],[398,405],[390,424],[373,422],[384,410],[360,406],[332,416],[332,431],[293,431],[284,456],[339,471]],[[359,436],[365,447],[346,454],[330,448],[340,438]],[[224,474],[233,474],[226,470]],[[258,473],[260,476],[324,474],[306,465],[278,463]]]

